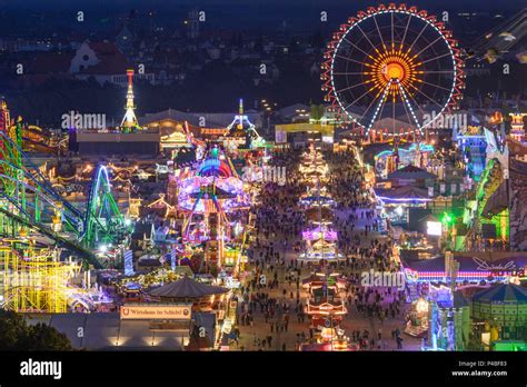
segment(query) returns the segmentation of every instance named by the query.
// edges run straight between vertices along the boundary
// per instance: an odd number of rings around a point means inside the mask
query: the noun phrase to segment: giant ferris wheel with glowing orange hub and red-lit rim
[[[367,135],[379,122],[394,136],[401,128],[422,133],[457,109],[464,62],[457,41],[435,16],[405,4],[370,7],[332,38],[321,79],[339,122],[355,122]]]

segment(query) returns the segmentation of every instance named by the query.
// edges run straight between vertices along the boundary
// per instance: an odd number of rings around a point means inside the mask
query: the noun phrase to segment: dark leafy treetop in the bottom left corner
[[[3,350],[72,350],[64,334],[46,324],[28,325],[21,315],[0,309],[0,348]]]

